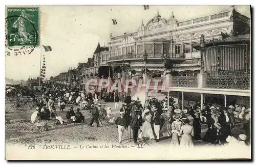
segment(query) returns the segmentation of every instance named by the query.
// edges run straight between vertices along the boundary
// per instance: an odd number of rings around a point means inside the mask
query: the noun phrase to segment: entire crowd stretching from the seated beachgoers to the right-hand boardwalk
[[[180,105],[172,98],[169,98],[168,106],[167,97],[163,100],[147,99],[142,105],[140,98],[132,100],[130,93],[118,93],[117,91],[108,93],[104,90],[99,93],[91,93],[81,88],[65,85],[57,85],[51,91],[44,90],[42,92],[41,98],[35,96],[37,109],[35,122],[38,127],[44,127],[44,130],[49,128],[47,120],[54,120],[55,124],[84,123],[85,118],[80,112],[82,109],[87,110],[92,116],[89,126],[96,122],[99,127],[100,119],[115,123],[118,128],[120,144],[123,131],[130,126],[135,144],[137,144],[138,138],[142,137],[154,139],[156,142],[166,137],[170,138],[170,144],[173,147],[193,147],[193,142],[197,140],[215,145],[225,145],[236,139],[231,132],[231,129],[236,126],[236,120],[241,121],[243,130],[236,142],[244,141],[245,145],[250,144],[250,108],[244,105],[236,104],[223,108],[204,104],[201,108],[199,102],[190,105],[188,109],[181,109]],[[104,105],[98,103],[99,99],[104,102],[115,102],[113,108],[120,108],[120,116],[115,118],[111,113],[112,107],[105,108]],[[63,113],[66,104],[75,104],[78,108],[74,112],[74,108],[71,106],[65,112],[67,120],[63,120],[56,113],[55,106],[58,106],[60,112]],[[120,104],[121,107],[119,107]],[[190,121],[192,121],[191,124]],[[203,138],[201,138],[201,124],[208,126]]]

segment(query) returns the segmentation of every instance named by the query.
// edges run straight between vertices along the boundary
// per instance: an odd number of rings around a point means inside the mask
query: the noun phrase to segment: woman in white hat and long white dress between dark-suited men
[[[149,109],[145,109],[145,111],[142,114],[142,118],[144,119],[144,123],[142,124],[140,129],[143,133],[143,136],[149,137],[150,139],[155,139],[155,136],[153,134],[153,129],[151,127],[152,115]],[[140,135],[140,132],[139,132],[139,135]]]

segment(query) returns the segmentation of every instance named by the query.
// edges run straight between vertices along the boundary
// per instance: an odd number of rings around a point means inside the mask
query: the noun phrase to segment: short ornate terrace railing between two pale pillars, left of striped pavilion
[[[197,76],[174,76],[172,77],[171,87],[198,87]]]

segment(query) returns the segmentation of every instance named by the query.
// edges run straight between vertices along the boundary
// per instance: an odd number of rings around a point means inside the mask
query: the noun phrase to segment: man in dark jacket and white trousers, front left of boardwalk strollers
[[[127,126],[126,118],[123,116],[124,112],[120,112],[119,114],[120,116],[116,119],[115,123],[118,129],[118,141],[119,141],[119,144],[121,145],[123,131],[124,129],[127,130],[128,126]]]

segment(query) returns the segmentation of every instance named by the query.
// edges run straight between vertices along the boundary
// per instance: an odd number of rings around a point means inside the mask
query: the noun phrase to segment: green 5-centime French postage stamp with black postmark
[[[39,7],[6,8],[6,46],[39,46]]]

